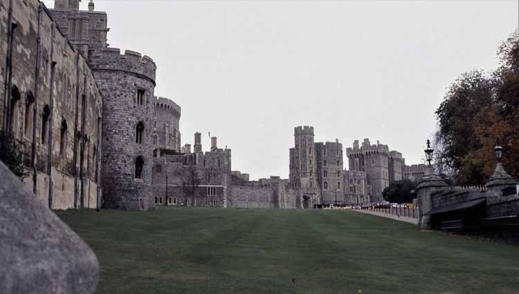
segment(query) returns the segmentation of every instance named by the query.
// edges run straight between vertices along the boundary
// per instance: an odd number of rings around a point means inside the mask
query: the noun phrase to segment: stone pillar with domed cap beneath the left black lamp
[[[448,185],[444,179],[438,175],[435,175],[432,166],[428,166],[426,175],[421,178],[417,188],[415,189],[417,193],[418,208],[420,213],[418,221],[419,228],[430,228],[430,215],[424,215],[424,213],[428,213],[432,208],[432,202],[430,199],[432,192],[447,187]]]

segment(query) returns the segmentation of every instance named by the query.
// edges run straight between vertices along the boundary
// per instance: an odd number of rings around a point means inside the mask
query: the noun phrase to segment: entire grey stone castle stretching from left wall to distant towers
[[[52,209],[155,206],[313,208],[379,201],[403,171],[401,153],[365,139],[347,148],[294,130],[289,179],[231,168],[231,150],[201,133],[181,146],[181,107],[156,97],[156,64],[107,44],[107,14],[80,0],[0,4],[1,128],[19,146],[37,199]],[[4,41],[5,40],[5,41]],[[193,148],[192,148],[193,147]]]

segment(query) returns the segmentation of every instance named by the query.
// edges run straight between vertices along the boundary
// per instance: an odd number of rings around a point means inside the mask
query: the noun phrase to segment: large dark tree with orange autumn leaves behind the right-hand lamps
[[[484,184],[495,168],[493,148],[505,148],[504,166],[519,176],[519,32],[498,49],[490,75],[467,72],[448,89],[435,112],[435,165],[457,184]]]

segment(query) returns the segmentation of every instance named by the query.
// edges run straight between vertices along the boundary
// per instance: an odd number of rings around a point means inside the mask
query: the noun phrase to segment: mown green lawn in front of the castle
[[[98,256],[98,293],[519,293],[519,246],[353,211],[57,215]]]

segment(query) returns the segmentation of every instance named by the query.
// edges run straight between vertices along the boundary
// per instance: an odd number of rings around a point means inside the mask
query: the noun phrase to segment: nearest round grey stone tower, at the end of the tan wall
[[[154,208],[153,117],[156,66],[140,53],[95,50],[90,66],[103,100],[103,206]]]

